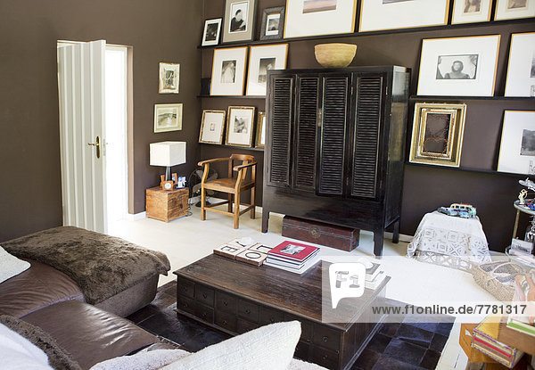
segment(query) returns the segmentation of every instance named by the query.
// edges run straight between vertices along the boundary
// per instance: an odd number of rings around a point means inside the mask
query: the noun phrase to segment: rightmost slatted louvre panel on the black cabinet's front
[[[375,198],[383,78],[358,79],[351,195]]]

